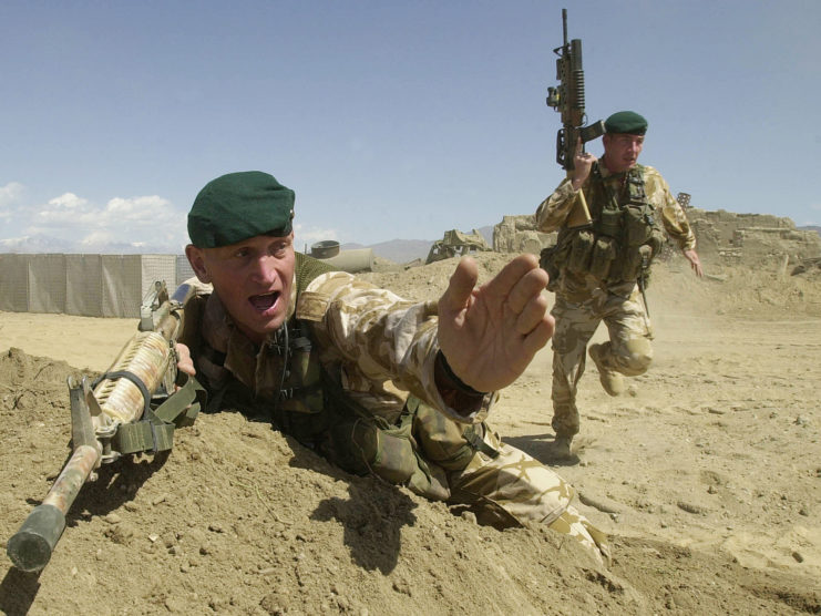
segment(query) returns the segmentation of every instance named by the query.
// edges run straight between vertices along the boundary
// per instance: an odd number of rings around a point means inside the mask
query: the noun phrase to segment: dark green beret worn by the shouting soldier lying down
[[[228,246],[257,235],[285,237],[293,218],[294,191],[273,175],[229,173],[199,191],[188,212],[188,237],[198,248]]]

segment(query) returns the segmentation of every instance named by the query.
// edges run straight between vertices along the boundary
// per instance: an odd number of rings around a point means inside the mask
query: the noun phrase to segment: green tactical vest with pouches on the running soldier
[[[628,281],[646,286],[650,263],[665,236],[647,198],[644,167],[635,165],[624,175],[604,177],[599,164],[594,163],[586,198],[593,224],[563,227],[556,245],[543,251],[543,267],[552,278],[550,288],[556,288],[565,270],[591,274],[604,286]]]

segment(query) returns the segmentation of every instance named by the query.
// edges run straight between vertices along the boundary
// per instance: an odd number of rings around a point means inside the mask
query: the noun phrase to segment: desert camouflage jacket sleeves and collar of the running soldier
[[[610,175],[599,160],[602,176]],[[582,191],[585,195],[589,192],[593,174],[585,179]],[[644,167],[644,182],[647,199],[660,214],[661,223],[667,234],[673,238],[681,250],[696,248],[696,236],[690,228],[687,216],[676,198],[670,194],[670,187],[661,174],[655,167]],[[573,189],[571,178],[564,179],[553,194],[544,199],[536,209],[536,228],[543,233],[560,229],[571,212],[575,196],[578,193]]]

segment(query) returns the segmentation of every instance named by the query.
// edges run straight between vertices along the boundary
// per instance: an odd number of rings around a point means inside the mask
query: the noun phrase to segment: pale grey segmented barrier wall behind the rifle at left
[[[193,275],[183,255],[0,254],[0,310],[140,317],[155,280]]]

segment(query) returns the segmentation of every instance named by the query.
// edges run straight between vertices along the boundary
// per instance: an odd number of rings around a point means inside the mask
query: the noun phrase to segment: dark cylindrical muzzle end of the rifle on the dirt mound
[[[6,552],[17,568],[40,571],[49,563],[64,528],[65,514],[62,511],[54,505],[38,505],[9,540]]]

